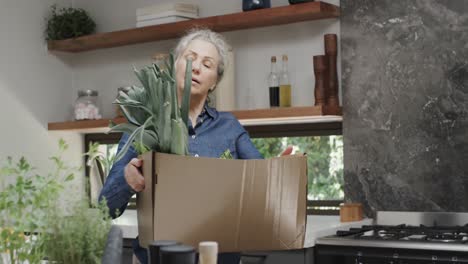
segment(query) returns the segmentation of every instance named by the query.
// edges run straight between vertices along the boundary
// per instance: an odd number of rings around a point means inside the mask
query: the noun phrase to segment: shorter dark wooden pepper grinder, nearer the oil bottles
[[[327,68],[328,61],[325,55],[314,56],[314,75],[315,75],[315,106],[327,104]]]

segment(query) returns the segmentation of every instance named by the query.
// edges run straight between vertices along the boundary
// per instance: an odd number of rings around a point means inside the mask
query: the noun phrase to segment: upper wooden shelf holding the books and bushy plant
[[[169,24],[97,33],[75,39],[51,40],[48,42],[48,49],[50,51],[82,52],[177,38],[193,27],[204,27],[217,32],[224,32],[308,20],[336,18],[339,17],[339,15],[339,7],[317,1],[192,19]]]

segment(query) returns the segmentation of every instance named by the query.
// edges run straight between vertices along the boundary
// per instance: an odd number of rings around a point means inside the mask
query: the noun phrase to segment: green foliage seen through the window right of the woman
[[[265,158],[278,156],[288,145],[307,153],[308,199],[343,199],[343,137],[253,138]]]

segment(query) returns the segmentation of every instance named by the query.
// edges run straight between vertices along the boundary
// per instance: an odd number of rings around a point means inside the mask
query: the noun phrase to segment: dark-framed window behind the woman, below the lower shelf
[[[311,127],[313,126],[313,127]],[[322,123],[250,126],[247,130],[254,145],[265,158],[277,156],[288,145],[296,152],[305,152],[308,165],[308,214],[338,214],[343,201],[343,137],[341,124]],[[99,142],[101,153],[116,151],[121,134],[88,134],[90,142]],[[108,154],[113,154],[107,151]],[[89,168],[86,175],[89,177]],[[135,208],[135,199],[128,208]]]

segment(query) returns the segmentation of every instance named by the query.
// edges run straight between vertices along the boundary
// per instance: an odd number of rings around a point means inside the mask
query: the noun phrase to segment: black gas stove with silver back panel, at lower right
[[[319,238],[316,263],[468,263],[467,223],[467,213],[378,212],[375,225]]]

